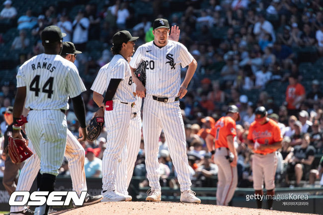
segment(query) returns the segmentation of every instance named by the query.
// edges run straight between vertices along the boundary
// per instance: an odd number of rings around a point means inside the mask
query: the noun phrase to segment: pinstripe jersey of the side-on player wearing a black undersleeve
[[[122,102],[134,102],[136,97],[133,95],[135,91],[132,82],[132,76],[129,64],[122,55],[115,55],[110,63],[104,65],[99,72],[91,86],[91,90],[103,95],[104,91],[109,86],[111,79],[122,79],[115,92],[112,100],[119,100]]]

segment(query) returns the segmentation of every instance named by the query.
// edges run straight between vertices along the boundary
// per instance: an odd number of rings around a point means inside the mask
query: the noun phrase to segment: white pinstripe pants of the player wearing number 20
[[[163,103],[146,96],[144,102],[143,135],[145,141],[146,170],[149,186],[161,189],[160,165],[158,162],[159,136],[165,133],[170,157],[172,158],[180,190],[189,190],[192,185],[186,154],[184,123],[179,101]]]

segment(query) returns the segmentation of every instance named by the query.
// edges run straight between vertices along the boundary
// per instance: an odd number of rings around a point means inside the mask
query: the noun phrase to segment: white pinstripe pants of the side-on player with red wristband
[[[113,110],[104,111],[104,121],[107,130],[107,147],[102,158],[102,190],[115,190],[117,160],[126,146],[131,116],[131,104],[113,101]],[[122,172],[121,172],[122,173]],[[123,172],[127,178],[127,171]]]

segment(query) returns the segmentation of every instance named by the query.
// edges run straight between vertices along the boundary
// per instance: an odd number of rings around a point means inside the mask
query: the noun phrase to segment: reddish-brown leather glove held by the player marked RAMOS
[[[12,138],[10,136],[8,141],[8,153],[13,163],[21,163],[33,155],[33,152],[26,145],[25,139]]]

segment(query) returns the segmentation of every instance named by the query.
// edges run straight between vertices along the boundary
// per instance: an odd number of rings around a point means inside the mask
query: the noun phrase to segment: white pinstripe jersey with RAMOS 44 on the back
[[[17,87],[26,86],[27,109],[68,109],[69,96],[86,90],[77,67],[59,55],[31,58],[19,68],[16,78]]]

